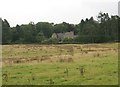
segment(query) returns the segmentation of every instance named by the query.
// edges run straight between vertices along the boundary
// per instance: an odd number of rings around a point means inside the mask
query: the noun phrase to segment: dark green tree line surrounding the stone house
[[[30,22],[29,24],[10,27],[9,22],[2,20],[2,43],[104,43],[119,41],[120,17],[109,16],[108,13],[100,12],[97,20],[93,17],[81,20],[79,24],[66,22],[54,24],[49,22]],[[73,39],[51,38],[53,33],[65,33],[74,31]]]

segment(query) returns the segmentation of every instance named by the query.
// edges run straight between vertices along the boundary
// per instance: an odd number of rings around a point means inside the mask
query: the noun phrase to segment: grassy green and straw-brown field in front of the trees
[[[118,43],[3,45],[3,85],[117,85]]]

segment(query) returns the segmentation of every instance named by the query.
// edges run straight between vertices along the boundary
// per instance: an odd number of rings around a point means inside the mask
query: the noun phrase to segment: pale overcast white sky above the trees
[[[119,0],[0,0],[0,17],[10,26],[33,21],[78,24],[99,12],[118,15]]]

